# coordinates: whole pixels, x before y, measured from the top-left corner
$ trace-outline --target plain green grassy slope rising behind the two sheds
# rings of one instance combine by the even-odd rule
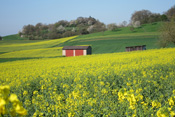
[[[147,49],[160,48],[157,44],[161,22],[145,24],[133,31],[130,27],[81,35],[67,41],[65,45],[91,45],[93,54],[124,52],[126,46],[146,45]],[[172,45],[171,45],[172,46]]]

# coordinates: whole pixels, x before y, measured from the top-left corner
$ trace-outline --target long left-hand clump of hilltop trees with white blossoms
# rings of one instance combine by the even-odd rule
[[[78,17],[70,22],[66,20],[58,21],[54,24],[26,25],[19,35],[28,37],[30,40],[35,39],[58,39],[74,35],[89,34],[105,31],[105,24],[93,17]]]

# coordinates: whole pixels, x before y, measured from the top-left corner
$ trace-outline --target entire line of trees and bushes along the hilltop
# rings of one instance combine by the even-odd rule
[[[105,30],[114,31],[120,27],[130,26],[131,30],[135,27],[139,27],[142,24],[170,21],[175,15],[175,7],[171,7],[163,14],[152,13],[149,10],[135,11],[131,15],[130,22],[123,21],[119,25],[111,23],[105,25],[99,20],[93,17],[78,17],[76,20],[66,21],[61,20],[54,24],[42,24],[25,25],[22,31],[19,32],[21,37],[27,37],[30,40],[35,39],[58,39],[63,37],[69,37],[74,35],[84,35],[95,32],[103,32]]]

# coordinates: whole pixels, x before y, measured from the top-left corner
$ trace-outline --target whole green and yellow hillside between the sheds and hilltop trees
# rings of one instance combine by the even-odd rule
[[[160,48],[157,44],[160,26],[161,22],[157,22],[142,25],[133,31],[130,27],[124,27],[115,31],[54,40],[28,40],[18,35],[10,35],[0,41],[0,61],[60,57],[61,48],[72,45],[90,45],[93,54],[124,52],[126,46],[135,45],[146,45],[147,49],[156,49]]]

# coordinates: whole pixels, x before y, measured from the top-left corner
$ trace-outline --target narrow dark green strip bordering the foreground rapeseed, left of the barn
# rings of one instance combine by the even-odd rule
[[[27,57],[27,58],[0,58],[0,63],[3,62],[12,62],[12,61],[20,61],[20,60],[30,60],[30,59],[43,59],[43,58],[60,58],[63,56],[54,56],[54,57]]]

